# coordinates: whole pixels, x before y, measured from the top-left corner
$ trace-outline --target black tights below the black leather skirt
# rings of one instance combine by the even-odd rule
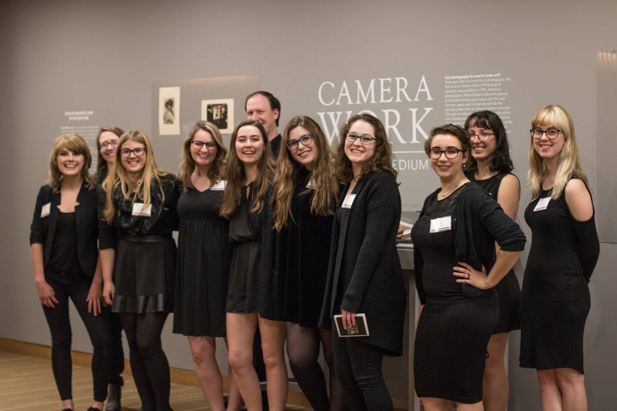
[[[143,411],[168,411],[169,363],[160,343],[167,312],[121,312],[130,349],[131,371]]]

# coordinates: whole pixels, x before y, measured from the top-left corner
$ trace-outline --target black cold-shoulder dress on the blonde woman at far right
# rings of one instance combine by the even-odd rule
[[[525,210],[531,248],[521,291],[520,365],[584,373],[583,333],[590,308],[587,282],[600,252],[595,218],[574,219],[565,190],[545,210],[534,211],[545,197],[550,197],[549,190],[543,190]]]

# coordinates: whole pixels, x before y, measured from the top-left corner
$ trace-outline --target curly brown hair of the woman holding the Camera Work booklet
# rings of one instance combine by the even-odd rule
[[[386,129],[384,125],[375,116],[370,114],[357,114],[349,118],[344,126],[341,128],[341,134],[339,134],[339,147],[336,149],[336,171],[342,182],[349,182],[354,178],[354,170],[351,167],[351,161],[345,154],[345,136],[349,132],[349,128],[356,121],[362,120],[371,124],[375,129],[375,154],[370,160],[366,161],[366,164],[362,167],[362,172],[358,179],[362,178],[366,174],[378,173],[379,171],[389,171],[396,177],[397,171],[392,167],[392,145],[390,140],[387,139]]]

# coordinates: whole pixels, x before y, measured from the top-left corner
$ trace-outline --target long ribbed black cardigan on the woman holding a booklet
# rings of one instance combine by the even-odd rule
[[[348,189],[349,184],[338,208]],[[400,356],[407,290],[395,245],[399,187],[392,173],[381,171],[362,177],[352,193],[356,197],[351,208],[342,209],[341,224],[334,218],[320,327],[329,327],[341,308],[364,313],[370,335],[357,338]]]

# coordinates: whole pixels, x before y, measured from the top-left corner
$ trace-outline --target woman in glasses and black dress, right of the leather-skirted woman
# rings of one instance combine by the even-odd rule
[[[216,337],[226,338],[225,306],[230,275],[229,220],[220,216],[225,191],[225,156],[217,126],[197,121],[184,139],[178,200],[178,271],[173,332],[188,336],[193,366],[213,411],[224,411],[223,379],[215,357]],[[242,399],[229,375],[227,410]]]

